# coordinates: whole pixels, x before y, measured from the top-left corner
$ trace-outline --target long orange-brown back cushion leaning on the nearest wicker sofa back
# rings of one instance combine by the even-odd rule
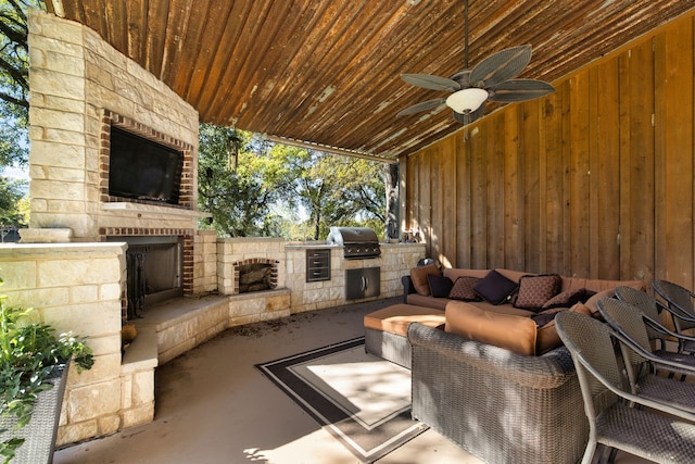
[[[534,355],[536,326],[527,316],[484,311],[463,301],[452,301],[445,310],[444,330],[515,353]]]

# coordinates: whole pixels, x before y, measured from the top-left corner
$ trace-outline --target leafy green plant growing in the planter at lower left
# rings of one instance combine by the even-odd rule
[[[84,338],[55,336],[54,329],[36,319],[31,310],[8,306],[0,296],[0,417],[15,416],[16,428],[31,418],[38,393],[52,388],[47,379],[68,361],[78,372],[91,368],[93,356]],[[5,431],[5,430],[0,430]],[[10,462],[23,439],[0,443],[0,456]]]

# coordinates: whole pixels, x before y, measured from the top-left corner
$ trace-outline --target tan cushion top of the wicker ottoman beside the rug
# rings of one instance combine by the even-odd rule
[[[415,322],[430,327],[439,327],[444,324],[444,312],[433,308],[394,304],[369,313],[364,318],[364,325],[367,328],[389,331],[403,337],[407,337],[408,326]]]

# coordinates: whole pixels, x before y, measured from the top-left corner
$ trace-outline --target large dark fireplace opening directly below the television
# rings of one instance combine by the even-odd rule
[[[142,317],[147,308],[184,296],[182,237],[112,237],[125,241],[127,319]]]

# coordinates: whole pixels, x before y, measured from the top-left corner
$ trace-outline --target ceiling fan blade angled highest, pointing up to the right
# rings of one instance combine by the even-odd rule
[[[519,46],[498,51],[478,63],[470,72],[473,87],[495,87],[516,77],[531,61],[531,46]]]

